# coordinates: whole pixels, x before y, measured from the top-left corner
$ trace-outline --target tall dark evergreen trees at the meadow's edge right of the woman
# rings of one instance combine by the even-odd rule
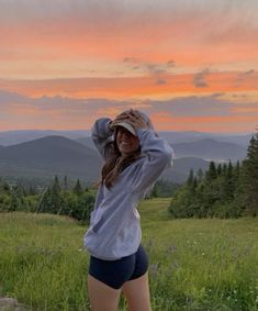
[[[238,218],[258,215],[258,133],[253,135],[246,158],[236,165],[215,165],[197,174],[176,191],[169,207],[175,218]]]

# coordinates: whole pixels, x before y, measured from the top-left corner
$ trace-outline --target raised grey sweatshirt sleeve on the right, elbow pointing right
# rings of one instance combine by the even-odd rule
[[[159,176],[172,166],[173,149],[150,129],[137,129],[142,160],[133,177],[133,190],[147,190]]]

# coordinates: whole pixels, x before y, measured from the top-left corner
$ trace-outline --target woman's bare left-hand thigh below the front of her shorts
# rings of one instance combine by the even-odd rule
[[[91,311],[116,311],[120,292],[121,289],[113,289],[91,275],[88,275],[88,295]]]

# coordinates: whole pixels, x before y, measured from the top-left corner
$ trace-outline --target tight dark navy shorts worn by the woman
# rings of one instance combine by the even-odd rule
[[[125,281],[139,278],[147,270],[148,256],[142,245],[135,254],[117,260],[90,256],[89,275],[114,289],[120,289]]]

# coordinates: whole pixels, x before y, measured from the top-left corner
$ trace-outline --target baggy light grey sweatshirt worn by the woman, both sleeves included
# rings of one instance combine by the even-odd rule
[[[108,143],[113,140],[111,119],[102,118],[92,127],[92,140],[103,159],[109,157]],[[137,204],[161,173],[172,165],[173,151],[153,129],[137,129],[141,156],[122,173],[108,189],[98,189],[90,226],[83,246],[100,259],[115,260],[134,254],[142,231]]]

